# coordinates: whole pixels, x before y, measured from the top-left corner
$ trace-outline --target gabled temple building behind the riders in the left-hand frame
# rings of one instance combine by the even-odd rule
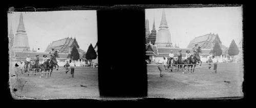
[[[45,52],[50,52],[50,50],[53,48],[54,51],[57,50],[59,53],[71,53],[72,48],[76,46],[78,53],[83,54],[85,51],[79,49],[78,43],[76,41],[76,38],[63,38],[56,41],[51,42],[50,45],[46,48]]]

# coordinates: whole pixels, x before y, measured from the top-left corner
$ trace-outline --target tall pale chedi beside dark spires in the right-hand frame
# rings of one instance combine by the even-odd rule
[[[157,32],[155,45],[158,47],[172,47],[172,41],[170,40],[170,31],[167,26],[164,9],[162,11],[162,19],[159,30]]]

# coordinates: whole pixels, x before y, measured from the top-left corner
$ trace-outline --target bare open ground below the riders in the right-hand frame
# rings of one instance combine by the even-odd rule
[[[205,66],[203,64],[201,67]],[[179,99],[243,96],[242,63],[218,64],[217,74],[213,67],[210,70],[195,69],[195,74],[182,72],[165,71],[162,72],[163,77],[160,77],[157,66],[147,66],[148,97]]]

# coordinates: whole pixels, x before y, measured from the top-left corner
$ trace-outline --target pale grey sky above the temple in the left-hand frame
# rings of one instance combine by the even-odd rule
[[[75,37],[80,49],[87,52],[89,45],[95,46],[98,40],[95,10],[22,13],[30,50],[39,48],[38,52],[45,52],[52,41]],[[8,13],[8,33],[12,27],[16,34],[19,15],[20,12]]]

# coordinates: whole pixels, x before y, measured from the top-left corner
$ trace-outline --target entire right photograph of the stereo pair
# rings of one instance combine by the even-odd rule
[[[243,7],[145,9],[147,97],[244,96]]]

